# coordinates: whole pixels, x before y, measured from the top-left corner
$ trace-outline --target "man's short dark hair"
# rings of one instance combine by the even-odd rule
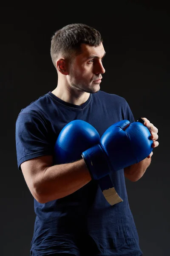
[[[100,32],[83,23],[72,23],[57,30],[51,38],[51,59],[56,68],[56,61],[62,53],[69,58],[72,53],[79,54],[81,44],[97,47],[103,42]]]

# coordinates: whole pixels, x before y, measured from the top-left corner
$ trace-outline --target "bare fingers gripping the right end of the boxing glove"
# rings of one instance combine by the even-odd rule
[[[150,131],[150,139],[153,140],[152,147],[156,148],[159,145],[158,140],[158,129],[145,117],[142,117],[144,120],[144,125],[149,129]],[[147,158],[150,158],[153,155],[153,151],[149,154]]]

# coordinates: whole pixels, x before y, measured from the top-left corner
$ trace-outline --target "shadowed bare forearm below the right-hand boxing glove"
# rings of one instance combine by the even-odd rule
[[[125,177],[131,181],[139,180],[146,172],[146,169],[150,166],[150,163],[151,157],[145,158],[139,163],[135,163],[131,166],[126,167],[124,169]]]

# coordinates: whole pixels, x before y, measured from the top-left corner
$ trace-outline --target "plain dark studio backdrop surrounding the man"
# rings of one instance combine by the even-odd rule
[[[22,108],[57,86],[51,36],[69,23],[86,23],[102,34],[101,90],[125,97],[135,119],[147,117],[159,129],[150,167],[139,181],[126,183],[144,256],[170,255],[169,6],[118,0],[25,3],[0,12],[1,255],[29,256],[34,200],[17,169],[15,122]]]

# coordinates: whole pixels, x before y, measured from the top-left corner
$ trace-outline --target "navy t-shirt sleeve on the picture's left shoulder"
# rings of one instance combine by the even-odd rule
[[[34,157],[52,155],[53,150],[45,120],[34,113],[20,113],[16,120],[17,166]]]

